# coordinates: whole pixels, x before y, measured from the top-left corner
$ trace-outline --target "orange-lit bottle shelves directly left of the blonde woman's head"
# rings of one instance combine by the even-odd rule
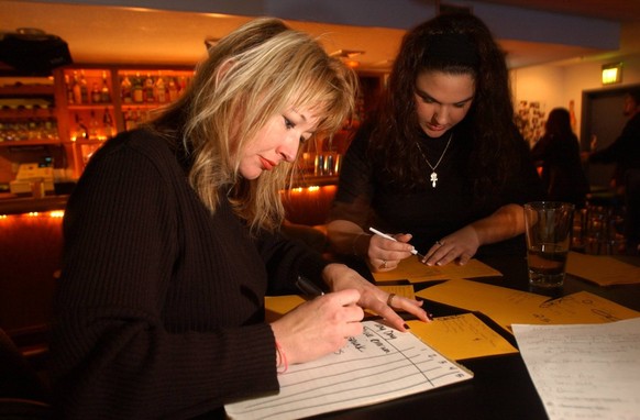
[[[131,130],[186,89],[191,68],[71,66],[56,70],[60,131],[79,177],[103,142]]]

